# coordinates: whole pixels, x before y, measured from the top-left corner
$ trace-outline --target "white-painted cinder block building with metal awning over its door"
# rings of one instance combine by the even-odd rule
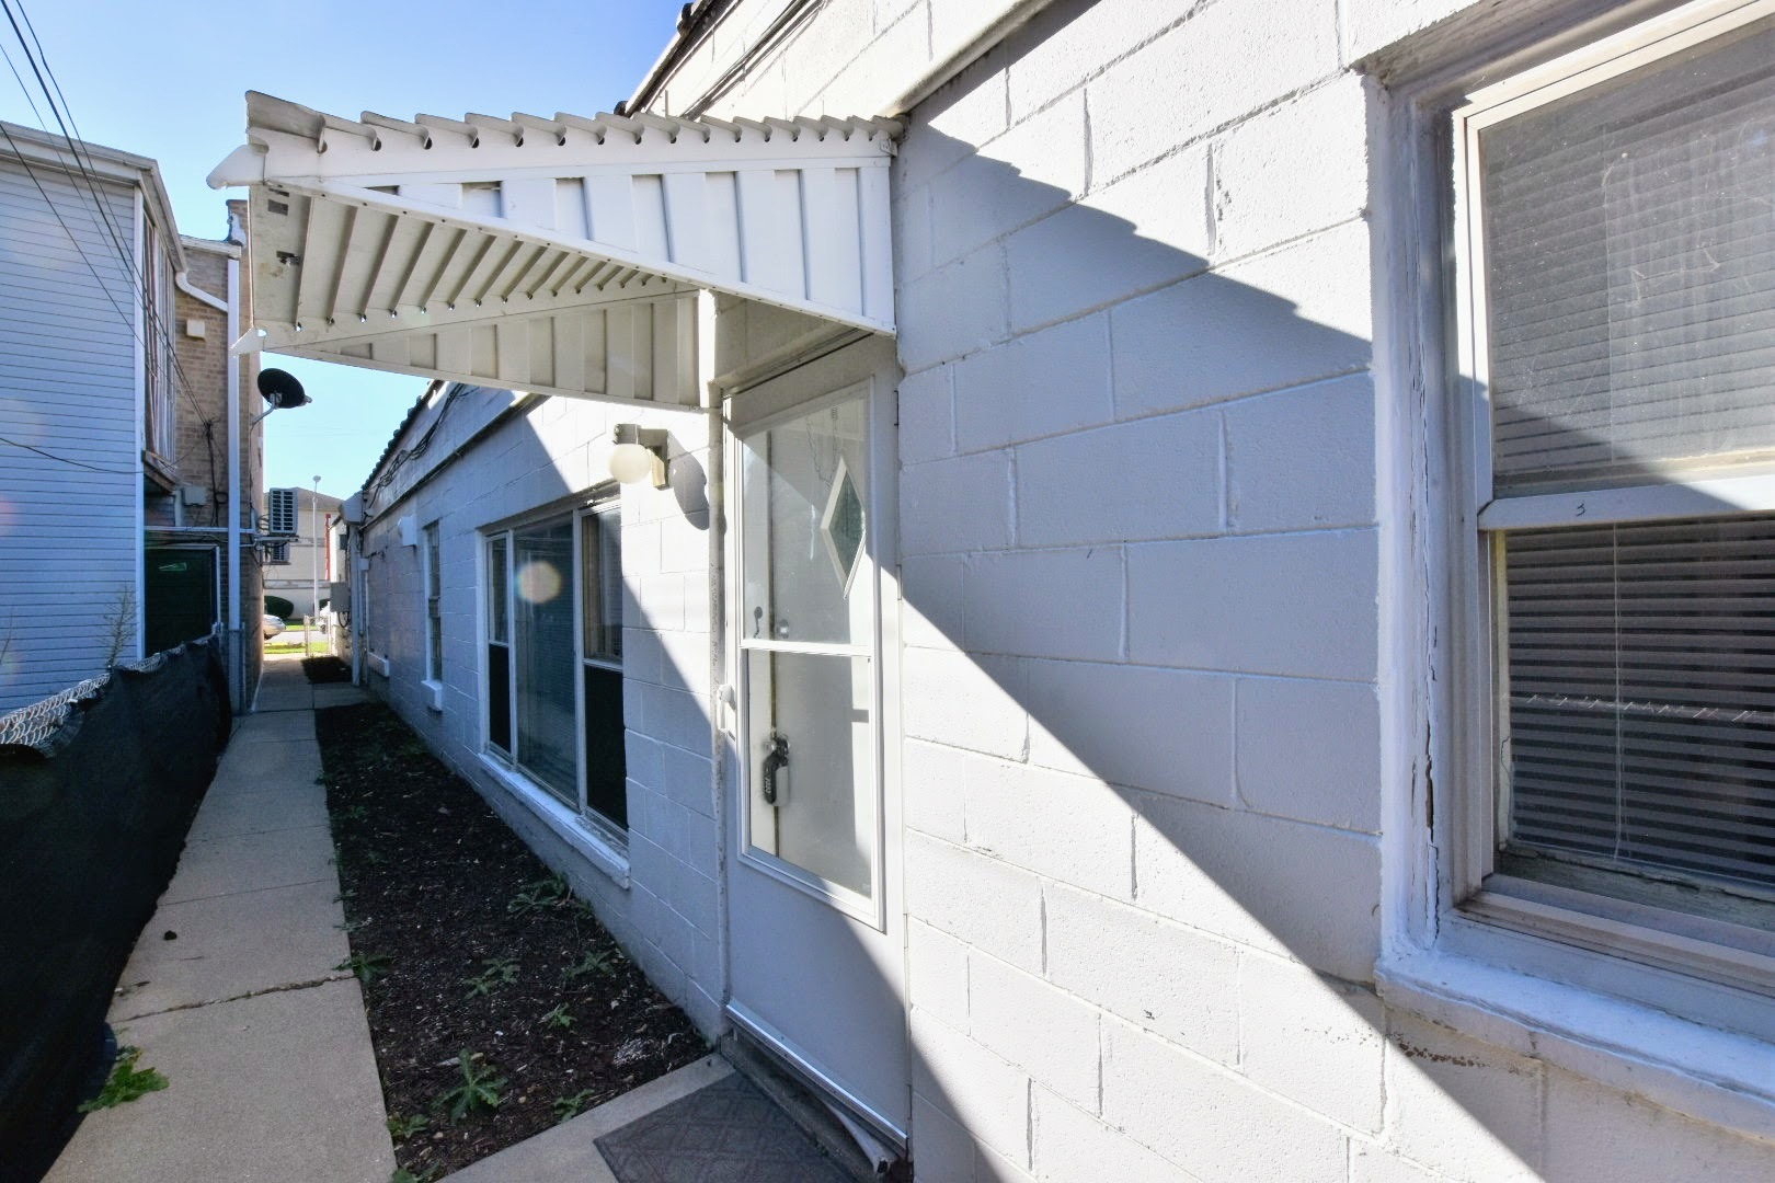
[[[215,181],[440,380],[369,685],[918,1178],[1766,1179],[1771,12],[703,0]]]

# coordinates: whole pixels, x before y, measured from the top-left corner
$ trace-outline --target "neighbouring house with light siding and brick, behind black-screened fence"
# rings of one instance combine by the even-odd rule
[[[0,227],[11,709],[227,628],[229,491],[250,504],[261,465],[257,362],[227,355],[240,236],[181,238],[151,160],[14,124],[0,138]],[[238,599],[259,599],[250,555]],[[231,662],[236,688],[257,676],[257,654],[250,630]]]

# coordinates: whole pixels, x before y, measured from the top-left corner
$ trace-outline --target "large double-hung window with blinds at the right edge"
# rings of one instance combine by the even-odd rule
[[[1454,889],[1470,917],[1766,990],[1775,18],[1747,11],[1661,18],[1452,115],[1456,566],[1491,704]]]

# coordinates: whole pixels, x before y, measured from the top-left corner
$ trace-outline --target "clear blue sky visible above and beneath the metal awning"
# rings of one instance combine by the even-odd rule
[[[309,0],[229,7],[170,0],[11,0],[23,7],[83,138],[160,161],[183,234],[222,238],[224,199],[204,176],[245,140],[247,90],[355,119],[373,110],[509,115],[593,114],[628,98],[671,39],[680,2],[550,0],[424,5]],[[20,44],[5,48],[43,114],[0,69],[0,119],[55,131]],[[4,66],[4,62],[0,62]],[[270,486],[344,497],[362,484],[421,378],[266,355],[311,406],[266,420]]]

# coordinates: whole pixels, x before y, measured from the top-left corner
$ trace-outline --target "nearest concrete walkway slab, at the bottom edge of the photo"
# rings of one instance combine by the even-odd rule
[[[135,1020],[169,1087],[91,1114],[48,1183],[387,1183],[394,1146],[355,979]]]

